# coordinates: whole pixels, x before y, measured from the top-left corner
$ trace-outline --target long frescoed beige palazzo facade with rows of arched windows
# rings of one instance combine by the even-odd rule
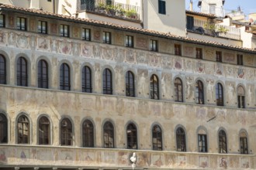
[[[0,8],[0,169],[256,168],[254,49]]]

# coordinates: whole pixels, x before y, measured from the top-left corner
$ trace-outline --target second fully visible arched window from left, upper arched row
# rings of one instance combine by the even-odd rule
[[[40,59],[37,66],[37,82],[38,87],[48,88],[48,64],[44,59]]]

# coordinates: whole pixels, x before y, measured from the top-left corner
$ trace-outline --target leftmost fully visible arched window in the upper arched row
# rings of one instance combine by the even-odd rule
[[[26,59],[22,56],[17,60],[17,85],[22,87],[28,86],[27,63]]]

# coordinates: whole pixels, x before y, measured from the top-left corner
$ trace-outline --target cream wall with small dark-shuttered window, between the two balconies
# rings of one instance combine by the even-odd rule
[[[158,13],[158,1],[144,1],[144,29],[185,36],[185,0],[166,0],[166,14]]]

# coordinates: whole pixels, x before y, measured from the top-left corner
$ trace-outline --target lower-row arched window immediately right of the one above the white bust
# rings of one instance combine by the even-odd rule
[[[152,129],[152,144],[153,150],[162,151],[162,131],[160,126],[154,125]]]

